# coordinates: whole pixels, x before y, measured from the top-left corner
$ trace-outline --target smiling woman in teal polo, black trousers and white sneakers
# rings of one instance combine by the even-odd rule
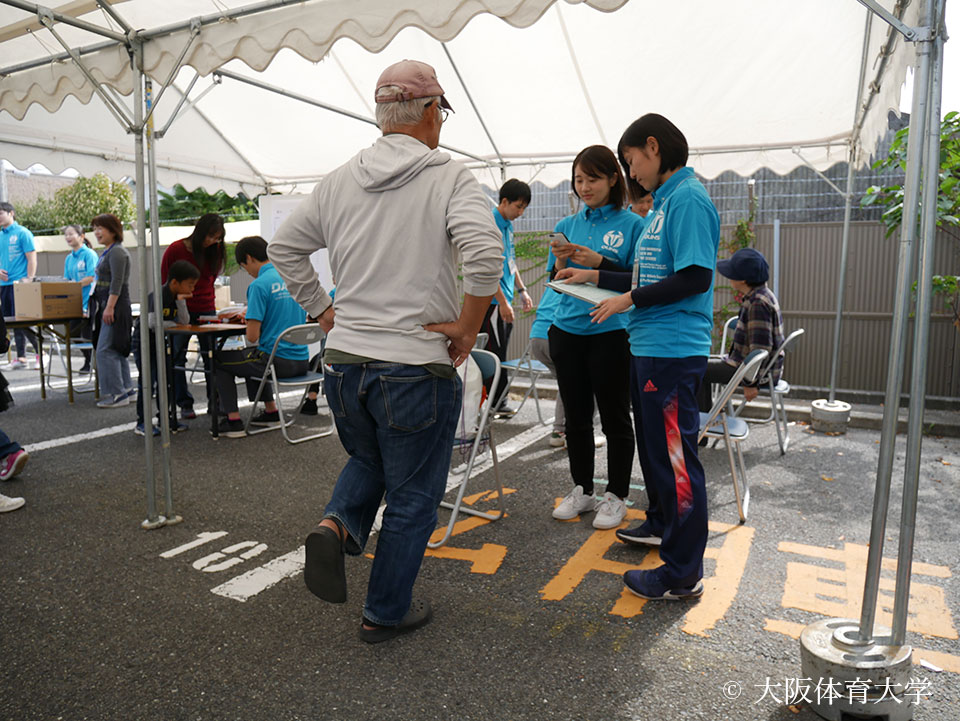
[[[623,208],[626,189],[616,156],[603,145],[591,145],[577,155],[572,175],[573,191],[583,201],[583,208],[557,223],[556,232],[569,242],[552,243],[551,272],[629,268],[644,220]],[[626,515],[624,499],[630,491],[633,466],[633,429],[626,393],[630,351],[626,318],[613,318],[600,326],[591,322],[591,308],[586,301],[562,295],[548,331],[550,356],[566,411],[573,478],[573,490],[554,509],[553,517],[570,520],[595,510],[594,528],[616,528]],[[606,492],[599,497],[593,488],[594,401],[607,438],[608,481]]]

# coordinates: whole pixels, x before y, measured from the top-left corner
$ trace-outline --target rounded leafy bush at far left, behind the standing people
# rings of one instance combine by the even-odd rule
[[[113,213],[124,223],[134,216],[133,194],[124,183],[110,180],[103,173],[77,178],[60,188],[53,198],[38,198],[31,205],[17,208],[17,222],[36,235],[59,233],[65,225],[76,223],[90,227],[94,216]]]

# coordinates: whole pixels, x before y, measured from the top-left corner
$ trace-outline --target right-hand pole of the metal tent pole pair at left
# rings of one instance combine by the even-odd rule
[[[147,108],[152,108],[153,102],[153,83],[146,82]],[[159,98],[158,98],[159,99]],[[149,171],[150,194],[150,249],[152,251],[152,272],[150,281],[154,298],[160,298],[163,284],[160,282],[160,210],[157,207],[157,154],[156,138],[153,137],[153,117],[148,115],[146,123],[147,135],[147,169]],[[149,348],[149,345],[146,346]],[[164,516],[167,519],[167,525],[180,523],[183,518],[177,515],[173,510],[173,480],[170,476],[170,399],[167,389],[167,363],[166,363],[166,344],[163,337],[163,324],[155,323],[153,329],[153,347],[157,349],[156,358],[151,357],[157,362],[157,396],[160,412],[160,463],[163,469],[163,498],[164,498]],[[152,356],[153,354],[151,354]],[[151,391],[152,393],[152,391]],[[152,399],[151,399],[152,400]],[[152,419],[151,419],[152,424]]]

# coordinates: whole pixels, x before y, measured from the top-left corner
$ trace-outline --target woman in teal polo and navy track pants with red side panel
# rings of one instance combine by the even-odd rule
[[[659,546],[663,565],[627,571],[624,583],[641,598],[697,598],[703,594],[707,491],[697,457],[696,394],[710,354],[720,217],[693,169],[685,167],[686,138],[662,115],[633,122],[619,151],[631,179],[654,198],[632,277],[603,270],[565,277],[628,291],[592,311],[595,323],[633,308],[630,394],[649,508],[640,526],[618,530],[617,538]]]

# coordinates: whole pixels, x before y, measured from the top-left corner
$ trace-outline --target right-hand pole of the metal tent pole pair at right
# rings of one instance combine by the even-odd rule
[[[932,3],[931,3],[932,4]],[[936,3],[933,24],[943,20],[944,0]],[[893,644],[904,643],[907,633],[907,607],[910,601],[910,573],[913,565],[913,541],[916,533],[917,493],[920,485],[920,447],[923,442],[924,395],[927,387],[927,355],[930,342],[930,308],[933,297],[933,251],[937,237],[937,196],[940,183],[940,95],[943,87],[943,35],[924,43],[931,66],[927,94],[927,126],[924,131],[923,202],[919,265],[917,267],[917,309],[914,322],[910,417],[907,421],[907,456],[903,480],[903,506],[900,515],[900,547],[897,553],[897,585],[893,604]]]

